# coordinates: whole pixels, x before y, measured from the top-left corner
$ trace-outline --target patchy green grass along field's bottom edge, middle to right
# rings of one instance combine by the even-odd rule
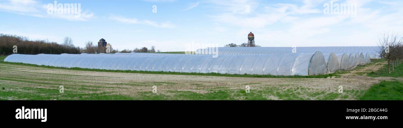
[[[311,89],[310,89],[311,90]],[[152,93],[146,91],[138,93],[135,96],[137,100],[335,100],[339,98],[339,93],[325,93],[324,91],[303,91],[303,93],[309,93],[309,97],[305,97],[303,93],[297,89],[285,89],[278,87],[267,87],[264,89],[256,90],[250,89],[249,93],[246,93],[244,89],[232,90],[232,89],[219,89],[210,90],[208,93],[196,93],[193,91],[168,91],[170,93]],[[312,96],[312,97],[311,97]],[[347,96],[348,98],[348,96]]]

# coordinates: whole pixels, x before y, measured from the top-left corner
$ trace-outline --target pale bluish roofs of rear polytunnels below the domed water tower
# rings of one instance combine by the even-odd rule
[[[196,54],[214,53],[216,49],[197,49]],[[289,54],[289,53],[368,53],[371,58],[378,58],[378,46],[352,46],[352,47],[218,47],[218,54]]]

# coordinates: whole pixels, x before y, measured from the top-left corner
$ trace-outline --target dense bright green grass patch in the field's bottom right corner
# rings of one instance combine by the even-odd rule
[[[403,83],[382,81],[368,89],[360,100],[403,100]]]

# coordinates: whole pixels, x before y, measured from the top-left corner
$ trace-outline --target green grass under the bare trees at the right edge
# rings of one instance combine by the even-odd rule
[[[395,71],[392,70],[391,65],[391,73],[388,73],[388,64],[384,65],[378,71],[372,71],[367,73],[369,77],[403,77],[403,66],[398,65],[395,67]]]

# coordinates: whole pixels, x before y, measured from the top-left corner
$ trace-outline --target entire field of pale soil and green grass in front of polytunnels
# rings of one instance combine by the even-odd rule
[[[256,78],[84,71],[0,62],[0,100],[402,100],[399,91],[387,95],[390,89],[403,87],[399,75],[374,76],[382,74],[385,64],[375,61],[328,78]],[[59,92],[60,85],[64,93]],[[154,85],[157,93],[152,92]],[[250,93],[245,93],[246,85]],[[343,93],[338,93],[339,85]],[[373,96],[385,87],[389,89],[384,97]]]

